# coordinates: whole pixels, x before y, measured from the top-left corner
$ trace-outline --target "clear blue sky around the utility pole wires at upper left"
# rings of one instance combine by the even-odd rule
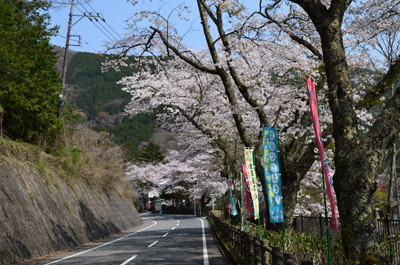
[[[54,1],[58,8],[49,11],[51,26],[60,26],[59,36],[53,37],[50,42],[53,45],[65,47],[71,0],[63,0],[66,4],[57,4],[60,3],[59,1],[61,0]],[[161,10],[163,13],[168,14],[172,8],[176,7],[178,2],[183,1],[139,0],[137,5],[132,6],[132,4],[126,0],[91,0],[90,2],[87,2],[87,0],[74,0],[71,35],[77,36],[71,37],[70,44],[77,45],[79,37],[81,42],[80,46],[70,46],[70,49],[92,53],[104,51],[104,47],[102,47],[104,41],[122,38],[124,33],[127,33],[125,29],[127,22],[124,22],[124,20],[132,17],[135,12],[141,10]],[[195,3],[195,1],[186,2]],[[99,15],[97,15],[97,13]],[[84,16],[84,14],[86,14],[86,16]],[[105,22],[99,18],[97,18],[98,22],[94,19],[90,21],[87,16],[91,15],[96,17],[100,16],[104,18]],[[194,19],[196,22],[196,18]],[[197,20],[200,22],[199,18]],[[200,27],[200,23],[195,24]],[[186,30],[190,28],[190,26],[189,24],[182,25],[182,27],[186,27]],[[201,48],[201,46],[205,44],[199,29],[193,29],[186,38],[195,49]]]

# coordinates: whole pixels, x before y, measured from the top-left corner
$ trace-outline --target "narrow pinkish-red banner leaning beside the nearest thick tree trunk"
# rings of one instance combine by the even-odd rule
[[[307,76],[307,92],[308,92],[307,95],[308,95],[308,100],[310,103],[311,118],[312,118],[312,122],[313,122],[319,157],[320,157],[321,163],[323,165],[322,167],[323,167],[324,177],[325,177],[326,192],[328,193],[328,198],[329,198],[329,202],[330,202],[331,209],[332,209],[331,228],[333,230],[337,230],[338,222],[337,222],[337,215],[336,215],[335,198],[333,196],[333,191],[332,191],[332,177],[329,174],[328,162],[326,161],[324,145],[322,143],[321,129],[319,126],[319,118],[318,118],[317,96],[316,96],[316,91],[315,91],[315,83],[308,76]]]

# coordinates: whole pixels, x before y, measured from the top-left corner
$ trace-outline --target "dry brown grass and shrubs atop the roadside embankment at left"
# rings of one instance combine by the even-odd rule
[[[0,138],[0,155],[31,164],[47,186],[57,181],[57,177],[71,188],[81,180],[114,189],[121,197],[128,198],[132,196],[132,186],[124,180],[125,153],[110,137],[106,132],[97,133],[87,126],[75,125],[63,133],[51,154],[36,145]],[[53,185],[59,189],[57,182]]]

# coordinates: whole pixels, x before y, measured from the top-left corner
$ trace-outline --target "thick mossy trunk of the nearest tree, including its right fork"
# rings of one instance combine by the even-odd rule
[[[399,93],[390,100],[373,128],[360,143],[341,24],[345,1],[327,12],[306,6],[321,37],[328,98],[335,140],[334,187],[346,257],[365,264],[379,256],[378,232],[372,195],[376,175],[398,134]]]

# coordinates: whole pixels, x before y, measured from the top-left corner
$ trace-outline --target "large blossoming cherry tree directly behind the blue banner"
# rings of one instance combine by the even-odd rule
[[[208,115],[212,113],[218,125],[209,122],[210,118],[206,118],[204,121],[208,122],[208,127],[204,124],[201,126],[197,124],[195,127],[209,135],[228,157],[231,152],[226,146],[233,146],[232,141],[229,144],[229,139],[239,138],[244,146],[254,146],[257,154],[256,168],[261,183],[264,183],[264,173],[260,152],[260,127],[279,124],[281,140],[284,143],[281,152],[284,207],[286,220],[290,224],[300,180],[314,162],[314,145],[310,141],[311,130],[304,130],[304,124],[309,124],[310,118],[304,115],[308,107],[305,89],[298,85],[299,69],[312,73],[318,64],[312,58],[308,58],[312,55],[310,52],[301,45],[289,42],[288,38],[281,39],[279,43],[274,40],[265,41],[266,35],[269,34],[266,29],[261,28],[254,32],[255,26],[260,23],[257,19],[249,20],[247,15],[242,15],[235,9],[230,10],[227,6],[222,6],[221,9],[219,6],[208,6],[204,1],[198,1],[197,4],[203,33],[208,42],[206,49],[201,51],[184,47],[179,42],[179,36],[176,37],[175,31],[170,29],[169,21],[159,14],[153,14],[152,17],[157,28],[152,27],[146,29],[147,31],[135,28],[136,31],[130,39],[133,42],[128,45],[130,51],[135,48],[138,52],[136,55],[173,54],[175,57],[173,60],[154,58],[154,62],[150,65],[154,65],[155,69],[148,67],[146,71],[127,77],[121,82],[126,85],[126,90],[132,93],[134,99],[128,107],[128,112],[133,114],[135,111],[146,111],[154,108],[155,105],[152,103],[156,103],[157,106],[168,106],[171,110],[180,112],[192,124],[195,120],[201,120],[197,118],[200,112]],[[211,8],[215,10],[212,11]],[[228,23],[231,27],[228,33],[223,27],[225,17],[222,15],[222,10],[235,16],[235,23]],[[148,15],[148,12],[142,13],[144,17]],[[218,31],[219,37],[216,40],[211,37],[208,17]],[[259,38],[258,35],[264,35],[264,38]],[[124,52],[126,53],[127,49]],[[177,62],[179,66],[171,66]],[[110,62],[110,65],[112,63]],[[149,60],[146,60],[146,63],[149,63]],[[194,81],[194,77],[198,80]],[[204,80],[208,80],[213,86],[205,85]],[[193,105],[193,103],[189,103],[191,99],[188,96],[191,94],[184,88],[189,86],[188,90],[194,91],[194,84],[203,86],[196,89],[201,91],[202,96],[205,95],[204,91],[207,91],[217,93],[218,97],[210,94],[207,98],[215,99],[217,102],[209,101],[208,107],[192,107],[191,110],[195,109],[197,113],[189,114],[188,109],[183,108],[182,104]],[[162,90],[160,86],[163,87]],[[141,88],[145,88],[145,91]],[[174,94],[171,99],[159,98],[160,95],[164,97],[168,93]],[[141,101],[140,98],[144,100]],[[326,118],[329,119],[329,115]],[[226,121],[230,121],[229,127]],[[216,128],[220,131],[215,131]],[[227,132],[228,128],[235,130],[235,133],[230,133],[228,136],[221,134],[221,131]],[[235,137],[230,138],[231,135]],[[266,196],[265,185],[261,186]]]

